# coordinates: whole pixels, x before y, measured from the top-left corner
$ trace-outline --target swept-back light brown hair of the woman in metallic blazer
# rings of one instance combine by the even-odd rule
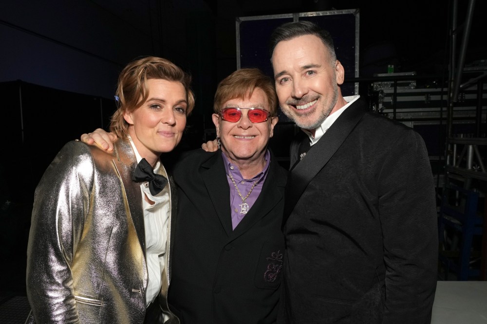
[[[149,96],[148,79],[180,82],[186,90],[186,116],[194,108],[194,93],[190,89],[191,76],[188,73],[165,58],[148,56],[137,59],[129,63],[118,77],[118,108],[112,116],[110,131],[119,138],[127,138],[129,134],[129,124],[124,119],[124,113],[142,106]]]

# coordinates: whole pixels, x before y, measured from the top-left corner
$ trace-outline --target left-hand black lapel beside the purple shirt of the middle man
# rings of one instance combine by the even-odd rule
[[[211,159],[202,164],[201,177],[225,233],[230,236],[233,232],[232,219],[229,216],[231,207],[229,199],[225,198],[230,197],[230,189],[221,151],[216,151]]]

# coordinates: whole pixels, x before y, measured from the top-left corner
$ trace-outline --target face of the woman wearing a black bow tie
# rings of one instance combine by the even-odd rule
[[[180,82],[147,80],[149,96],[141,107],[125,112],[129,134],[139,154],[151,165],[181,141],[186,126],[186,90]]]

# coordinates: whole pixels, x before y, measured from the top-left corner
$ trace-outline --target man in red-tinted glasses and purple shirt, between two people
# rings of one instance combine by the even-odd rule
[[[174,169],[179,203],[168,299],[182,323],[276,321],[287,180],[267,149],[277,100],[260,70],[230,74],[218,85],[212,115],[220,149],[189,152]],[[107,144],[104,131],[96,132],[81,139]]]

